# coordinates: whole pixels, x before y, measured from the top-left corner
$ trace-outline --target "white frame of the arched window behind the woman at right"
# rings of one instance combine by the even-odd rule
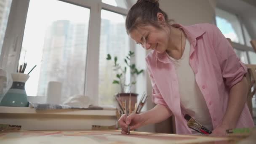
[[[242,14],[237,13],[237,12],[235,12],[235,11],[232,11],[232,10],[230,10],[230,9],[228,9],[228,8],[223,8],[223,7],[221,7],[221,6],[216,6],[216,8],[219,8],[219,9],[221,9],[221,10],[223,10],[223,11],[226,11],[226,12],[228,12],[228,13],[234,14],[234,15],[237,17],[238,22],[239,22],[240,27],[241,27],[241,30],[242,30],[242,37],[243,37],[244,44],[242,45],[242,44],[240,44],[240,43],[235,43],[235,42],[231,42],[231,43],[232,43],[233,48],[235,48],[235,49],[238,50],[238,51],[243,51],[243,52],[246,53],[248,64],[251,64],[250,56],[249,56],[249,53],[248,53],[248,52],[249,52],[249,51],[254,52],[254,50],[253,50],[252,47],[249,47],[249,46],[246,45],[246,37],[245,37],[245,32],[244,32],[244,29],[243,29],[243,25],[244,25],[244,27],[245,27],[246,29],[247,29],[247,27],[246,27],[245,23],[243,23],[243,21],[242,21],[242,20],[243,20]],[[216,15],[215,15],[215,25],[217,26],[217,24],[216,24]],[[248,31],[248,29],[247,29],[247,31]],[[249,34],[249,35],[250,35],[250,34]],[[251,35],[250,35],[250,36],[251,36]]]

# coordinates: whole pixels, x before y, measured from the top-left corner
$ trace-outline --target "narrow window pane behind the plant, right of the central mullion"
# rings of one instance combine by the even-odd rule
[[[129,51],[129,38],[125,30],[125,16],[101,10],[101,36],[99,54],[99,103],[112,105],[113,96],[120,92],[120,86],[112,84],[116,78],[114,61],[107,61],[107,54],[117,56],[117,62],[124,66],[124,58]],[[129,72],[127,72],[129,73]],[[127,80],[129,77],[126,78]]]

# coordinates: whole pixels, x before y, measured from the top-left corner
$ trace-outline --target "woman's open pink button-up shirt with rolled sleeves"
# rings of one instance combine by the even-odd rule
[[[182,28],[190,42],[189,65],[195,73],[213,122],[218,126],[226,112],[229,90],[240,82],[247,68],[237,58],[232,46],[213,24],[196,24]],[[176,133],[191,134],[180,104],[179,84],[174,64],[165,53],[151,51],[147,57],[147,70],[152,83],[152,101],[168,107],[175,116]],[[192,116],[192,115],[191,115]],[[192,116],[193,117],[193,116]],[[247,104],[237,122],[237,128],[253,127]]]

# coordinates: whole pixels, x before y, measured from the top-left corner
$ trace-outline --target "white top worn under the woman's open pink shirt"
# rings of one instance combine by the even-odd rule
[[[195,117],[197,122],[209,130],[213,130],[211,115],[203,94],[195,81],[195,73],[189,65],[189,51],[190,43],[188,40],[186,40],[184,53],[181,59],[173,59],[166,53],[166,55],[175,65],[175,70],[179,81],[181,105],[185,108],[187,114],[189,114],[191,117]],[[192,131],[192,133],[194,132],[195,131]]]

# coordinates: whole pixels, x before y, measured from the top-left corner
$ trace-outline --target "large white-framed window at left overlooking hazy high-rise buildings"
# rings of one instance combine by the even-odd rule
[[[112,85],[114,73],[106,58],[110,53],[123,62],[134,49],[125,30],[127,2],[13,0],[5,34],[11,39],[3,43],[0,67],[11,73],[18,63],[27,63],[28,73],[37,65],[25,85],[35,101],[47,96],[50,81],[58,81],[61,102],[82,94],[91,98],[91,104],[114,104],[113,95],[120,90]]]

